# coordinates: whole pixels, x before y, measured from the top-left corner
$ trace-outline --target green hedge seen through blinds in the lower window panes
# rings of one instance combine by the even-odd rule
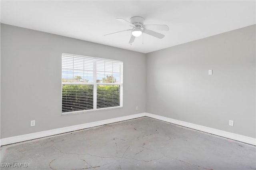
[[[97,108],[120,106],[120,85],[97,85]],[[62,85],[62,112],[93,109],[93,85]]]

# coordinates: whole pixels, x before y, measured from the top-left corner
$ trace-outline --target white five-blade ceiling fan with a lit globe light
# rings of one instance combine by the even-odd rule
[[[116,19],[126,23],[128,26],[133,27],[132,29],[129,29],[129,30],[118,31],[118,32],[131,31],[132,35],[129,43],[133,43],[135,38],[141,36],[142,33],[162,39],[164,38],[164,34],[160,34],[152,30],[169,31],[169,27],[167,25],[144,25],[144,18],[141,16],[134,16],[130,18],[130,22],[123,18],[116,18]],[[152,29],[152,30],[149,30],[149,29]],[[110,34],[116,34],[118,32],[113,32]],[[106,34],[104,36],[107,36],[110,34]]]

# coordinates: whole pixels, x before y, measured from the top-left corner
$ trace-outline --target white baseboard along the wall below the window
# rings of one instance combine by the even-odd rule
[[[85,129],[85,128],[97,127],[97,126],[100,126],[100,125],[106,125],[106,124],[110,124],[110,123],[126,121],[126,120],[135,119],[135,118],[139,118],[139,117],[145,117],[145,116],[146,116],[146,113],[139,113],[139,114],[124,116],[124,117],[106,119],[106,120],[103,120],[103,121],[84,123],[84,124],[81,124],[81,125],[74,125],[74,126],[70,126],[70,127],[56,128],[56,129],[52,129],[52,130],[45,130],[45,131],[41,131],[41,132],[23,134],[23,135],[13,136],[13,137],[9,137],[9,138],[2,138],[1,139],[1,146],[6,145],[6,144],[13,144],[13,143],[17,143],[17,142],[23,142],[23,141],[26,141],[26,140],[32,140],[32,139],[36,139],[36,138],[42,138],[42,137],[46,137],[46,136],[52,136],[52,135],[55,135],[55,134],[72,132],[72,131],[75,131],[75,130],[81,130],[81,129]]]

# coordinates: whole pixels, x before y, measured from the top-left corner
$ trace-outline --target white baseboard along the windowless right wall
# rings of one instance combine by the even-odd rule
[[[230,138],[230,139],[233,139],[233,140],[237,140],[237,141],[240,141],[240,142],[256,145],[256,138],[243,136],[241,134],[231,133],[231,132],[227,132],[227,131],[224,131],[224,130],[218,130],[216,128],[210,128],[210,127],[205,127],[205,126],[201,126],[201,125],[196,125],[196,124],[193,124],[193,123],[179,121],[179,120],[176,120],[176,119],[171,119],[171,118],[168,118],[168,117],[154,115],[154,114],[151,114],[151,113],[146,113],[146,117],[151,117],[151,118],[154,118],[154,119],[158,119],[160,121],[165,121],[165,122],[173,123],[173,124],[180,125],[180,126],[183,126],[183,127],[188,127],[188,128],[200,130],[202,132],[207,132],[207,133],[215,134],[215,135],[222,136],[222,137],[225,137],[225,138]]]

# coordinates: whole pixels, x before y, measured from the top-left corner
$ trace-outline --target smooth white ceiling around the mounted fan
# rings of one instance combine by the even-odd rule
[[[142,53],[186,43],[256,23],[253,1],[3,1],[1,22]],[[144,34],[128,44],[132,16],[144,24],[167,24],[163,39]]]

